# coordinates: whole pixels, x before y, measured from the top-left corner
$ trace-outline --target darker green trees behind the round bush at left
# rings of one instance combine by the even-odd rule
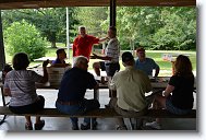
[[[74,8],[70,8],[70,30],[73,30],[77,21],[74,19]],[[25,20],[35,25],[51,47],[57,47],[56,43],[65,43],[65,8],[40,8],[24,10],[7,10],[2,12],[3,28],[9,27],[13,22]],[[70,33],[74,36],[73,33]]]

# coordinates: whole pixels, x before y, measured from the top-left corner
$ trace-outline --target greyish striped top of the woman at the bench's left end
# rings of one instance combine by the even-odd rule
[[[4,89],[10,89],[10,106],[24,106],[36,102],[35,82],[40,82],[43,75],[32,70],[12,70],[7,73]]]

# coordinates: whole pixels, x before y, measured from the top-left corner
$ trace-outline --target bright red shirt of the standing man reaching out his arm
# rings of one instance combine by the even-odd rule
[[[85,56],[89,60],[90,51],[94,44],[98,44],[99,38],[90,35],[85,35],[82,37],[78,35],[73,43],[73,57]]]

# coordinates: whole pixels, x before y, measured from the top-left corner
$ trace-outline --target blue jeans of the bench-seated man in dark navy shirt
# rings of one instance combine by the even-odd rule
[[[86,112],[98,109],[100,104],[97,100],[84,100],[80,105],[62,105],[56,102],[56,107],[59,112],[70,115],[82,115]],[[77,126],[78,118],[70,117],[72,125]],[[94,118],[96,120],[96,118]],[[90,124],[90,118],[84,118],[84,122]]]

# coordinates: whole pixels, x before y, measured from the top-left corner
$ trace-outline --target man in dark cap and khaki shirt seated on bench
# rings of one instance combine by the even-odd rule
[[[125,70],[113,75],[110,83],[111,90],[117,90],[118,97],[110,101],[110,106],[121,115],[143,115],[148,108],[145,93],[152,91],[148,77],[135,69],[134,58],[131,52],[122,54],[122,62]],[[123,118],[118,118],[117,130],[126,130]]]

